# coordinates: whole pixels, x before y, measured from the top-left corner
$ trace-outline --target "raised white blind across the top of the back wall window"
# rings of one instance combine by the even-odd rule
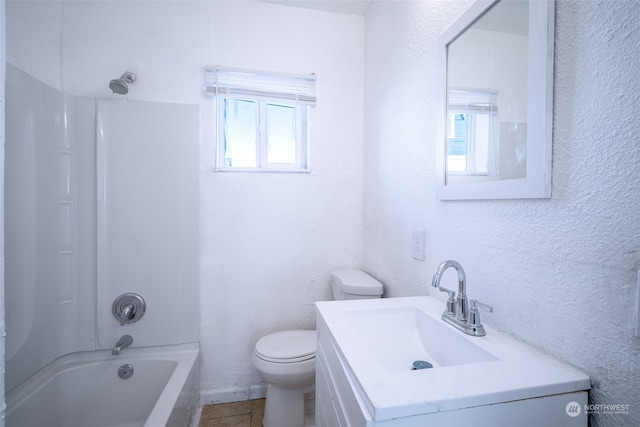
[[[247,96],[315,105],[315,74],[299,75],[219,66],[205,68],[206,91],[212,95]]]

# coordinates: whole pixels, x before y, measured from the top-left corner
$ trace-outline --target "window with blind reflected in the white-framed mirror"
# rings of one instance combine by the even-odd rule
[[[497,93],[452,89],[447,102],[447,171],[494,175]]]

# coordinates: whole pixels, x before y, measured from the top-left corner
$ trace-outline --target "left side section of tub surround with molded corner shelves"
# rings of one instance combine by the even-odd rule
[[[6,67],[9,391],[57,357],[96,349],[96,181],[95,102]]]

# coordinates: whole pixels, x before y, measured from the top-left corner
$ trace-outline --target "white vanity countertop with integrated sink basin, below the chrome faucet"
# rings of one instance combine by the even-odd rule
[[[445,303],[433,297],[316,306],[319,333],[329,331],[378,421],[590,388],[582,372],[486,325],[486,336],[473,337],[444,323]],[[412,370],[415,360],[433,368]]]

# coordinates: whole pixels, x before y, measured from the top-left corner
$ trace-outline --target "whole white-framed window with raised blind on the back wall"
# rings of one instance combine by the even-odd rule
[[[207,68],[216,100],[217,170],[309,171],[315,76]]]

